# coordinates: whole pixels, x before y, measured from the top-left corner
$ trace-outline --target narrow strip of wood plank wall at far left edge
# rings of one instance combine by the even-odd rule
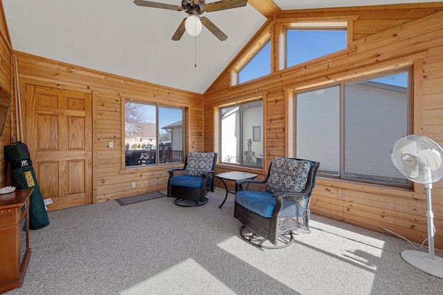
[[[6,19],[3,12],[3,4],[0,3],[0,87],[3,91],[14,95],[12,91],[12,46],[6,25]],[[11,115],[14,110],[14,98],[12,97],[11,106],[6,117],[3,134],[0,137],[0,187],[10,184],[9,173],[6,173],[6,161],[3,147],[11,144]]]

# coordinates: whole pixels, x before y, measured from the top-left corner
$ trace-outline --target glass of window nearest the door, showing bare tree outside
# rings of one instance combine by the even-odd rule
[[[183,109],[125,101],[125,166],[183,162]]]

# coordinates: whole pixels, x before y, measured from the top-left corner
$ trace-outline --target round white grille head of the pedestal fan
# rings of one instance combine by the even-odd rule
[[[443,149],[422,135],[406,135],[392,146],[395,167],[413,182],[430,184],[443,178]]]

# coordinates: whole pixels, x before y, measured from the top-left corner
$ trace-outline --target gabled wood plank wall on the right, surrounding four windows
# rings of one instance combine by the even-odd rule
[[[242,99],[264,99],[264,169],[219,164],[217,173],[242,170],[264,176],[272,158],[293,156],[291,148],[291,101],[293,88],[332,84],[363,73],[394,68],[413,68],[413,133],[426,135],[443,146],[443,3],[372,6],[279,12],[264,24],[229,66],[204,93],[204,149],[218,150],[220,106]],[[354,17],[352,44],[346,50],[278,70],[280,23],[291,21],[346,19]],[[273,53],[270,75],[230,86],[238,61],[271,30]],[[257,178],[257,179],[260,179]],[[435,245],[443,249],[443,181],[433,186]],[[427,238],[426,193],[423,185],[413,190],[394,189],[357,182],[318,178],[311,211],[359,227],[387,234],[381,227],[397,231],[415,242]]]

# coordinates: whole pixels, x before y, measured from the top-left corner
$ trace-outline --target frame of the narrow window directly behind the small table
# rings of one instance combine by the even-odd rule
[[[264,114],[265,114],[265,104],[264,104],[264,101],[265,101],[265,99],[264,99],[264,97],[262,97],[262,96],[260,96],[260,97],[257,97],[257,98],[255,98],[255,99],[247,99],[247,100],[244,100],[244,101],[242,101],[242,102],[236,102],[235,104],[228,104],[228,105],[224,105],[224,106],[219,106],[218,108],[217,108],[217,116],[215,117],[216,118],[216,120],[217,120],[217,124],[216,125],[218,125],[218,138],[219,138],[219,140],[218,140],[218,142],[217,142],[217,146],[218,146],[218,151],[219,151],[219,158],[218,158],[218,160],[217,160],[217,162],[219,162],[219,164],[225,164],[225,165],[230,165],[230,166],[241,166],[241,167],[245,167],[245,168],[251,168],[251,169],[260,169],[260,170],[263,170],[265,167],[264,167],[264,158],[265,158],[265,150],[266,150],[266,140],[265,140],[265,134],[263,133],[264,132],[264,130],[265,130],[265,120],[264,120]],[[262,154],[262,165],[261,166],[257,166],[257,165],[248,165],[248,164],[244,164],[244,159],[243,159],[243,151],[244,151],[244,149],[243,149],[243,146],[244,146],[244,144],[243,144],[243,141],[244,141],[244,137],[243,137],[243,106],[244,105],[246,105],[246,104],[254,104],[254,103],[256,103],[256,102],[261,102],[262,103],[262,129],[261,129],[261,136],[262,136],[262,140],[261,140],[261,142],[262,142],[262,151],[263,151],[263,154]],[[223,110],[223,109],[225,109],[225,108],[232,108],[232,107],[235,107],[235,106],[239,106],[239,114],[240,114],[240,117],[239,117],[239,132],[241,133],[241,137],[240,137],[240,140],[239,140],[239,151],[242,151],[242,153],[241,153],[241,161],[240,161],[240,163],[236,163],[236,162],[224,162],[223,161],[223,157],[222,157],[222,144],[223,144],[223,142],[222,142],[222,140],[221,140],[221,134],[222,134],[222,120],[223,120],[223,116],[221,115],[221,111]],[[257,127],[257,126],[253,126],[253,128],[254,127]]]

